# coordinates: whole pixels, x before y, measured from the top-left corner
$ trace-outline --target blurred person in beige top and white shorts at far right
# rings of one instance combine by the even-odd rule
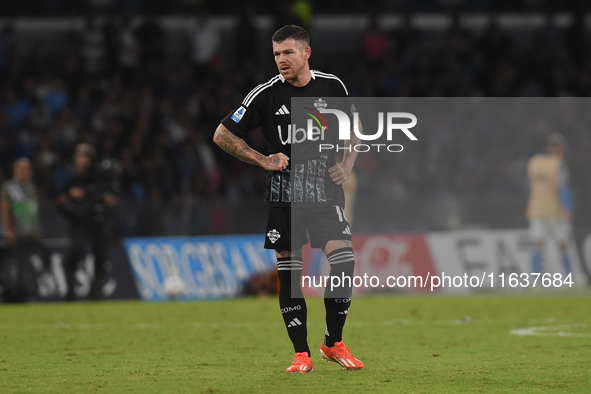
[[[564,137],[551,133],[546,139],[547,153],[533,156],[527,165],[530,196],[526,217],[534,242],[532,273],[541,273],[544,239],[549,237],[560,246],[566,274],[572,273],[567,246],[571,236],[573,200],[564,163]]]

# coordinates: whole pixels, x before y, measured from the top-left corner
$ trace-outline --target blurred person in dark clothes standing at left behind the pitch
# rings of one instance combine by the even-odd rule
[[[94,280],[89,298],[101,299],[102,288],[107,280],[107,252],[113,234],[116,233],[116,180],[113,179],[112,171],[99,166],[97,152],[89,144],[76,146],[74,169],[74,174],[58,200],[59,210],[70,224],[71,247],[64,260],[68,285],[66,300],[76,298],[76,270],[88,245],[94,256]]]

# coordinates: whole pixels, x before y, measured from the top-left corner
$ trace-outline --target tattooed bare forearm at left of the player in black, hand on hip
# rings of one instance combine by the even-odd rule
[[[232,156],[248,164],[263,167],[267,171],[283,171],[287,168],[289,157],[283,153],[265,156],[252,149],[240,137],[234,135],[224,125],[220,124],[215,131],[213,141]]]

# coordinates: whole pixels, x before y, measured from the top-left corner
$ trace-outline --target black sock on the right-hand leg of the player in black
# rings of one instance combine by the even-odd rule
[[[337,276],[340,279],[340,286],[331,288],[332,282],[329,280],[324,290],[324,307],[326,309],[324,344],[332,347],[335,342],[343,340],[343,327],[349,313],[353,293],[355,257],[352,248],[334,250],[326,257],[330,264],[330,276]]]

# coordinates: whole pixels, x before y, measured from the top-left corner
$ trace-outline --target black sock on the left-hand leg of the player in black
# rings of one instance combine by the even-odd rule
[[[296,353],[308,352],[308,310],[300,286],[303,262],[301,257],[280,257],[277,259],[279,275],[279,307],[287,327],[287,334]]]

